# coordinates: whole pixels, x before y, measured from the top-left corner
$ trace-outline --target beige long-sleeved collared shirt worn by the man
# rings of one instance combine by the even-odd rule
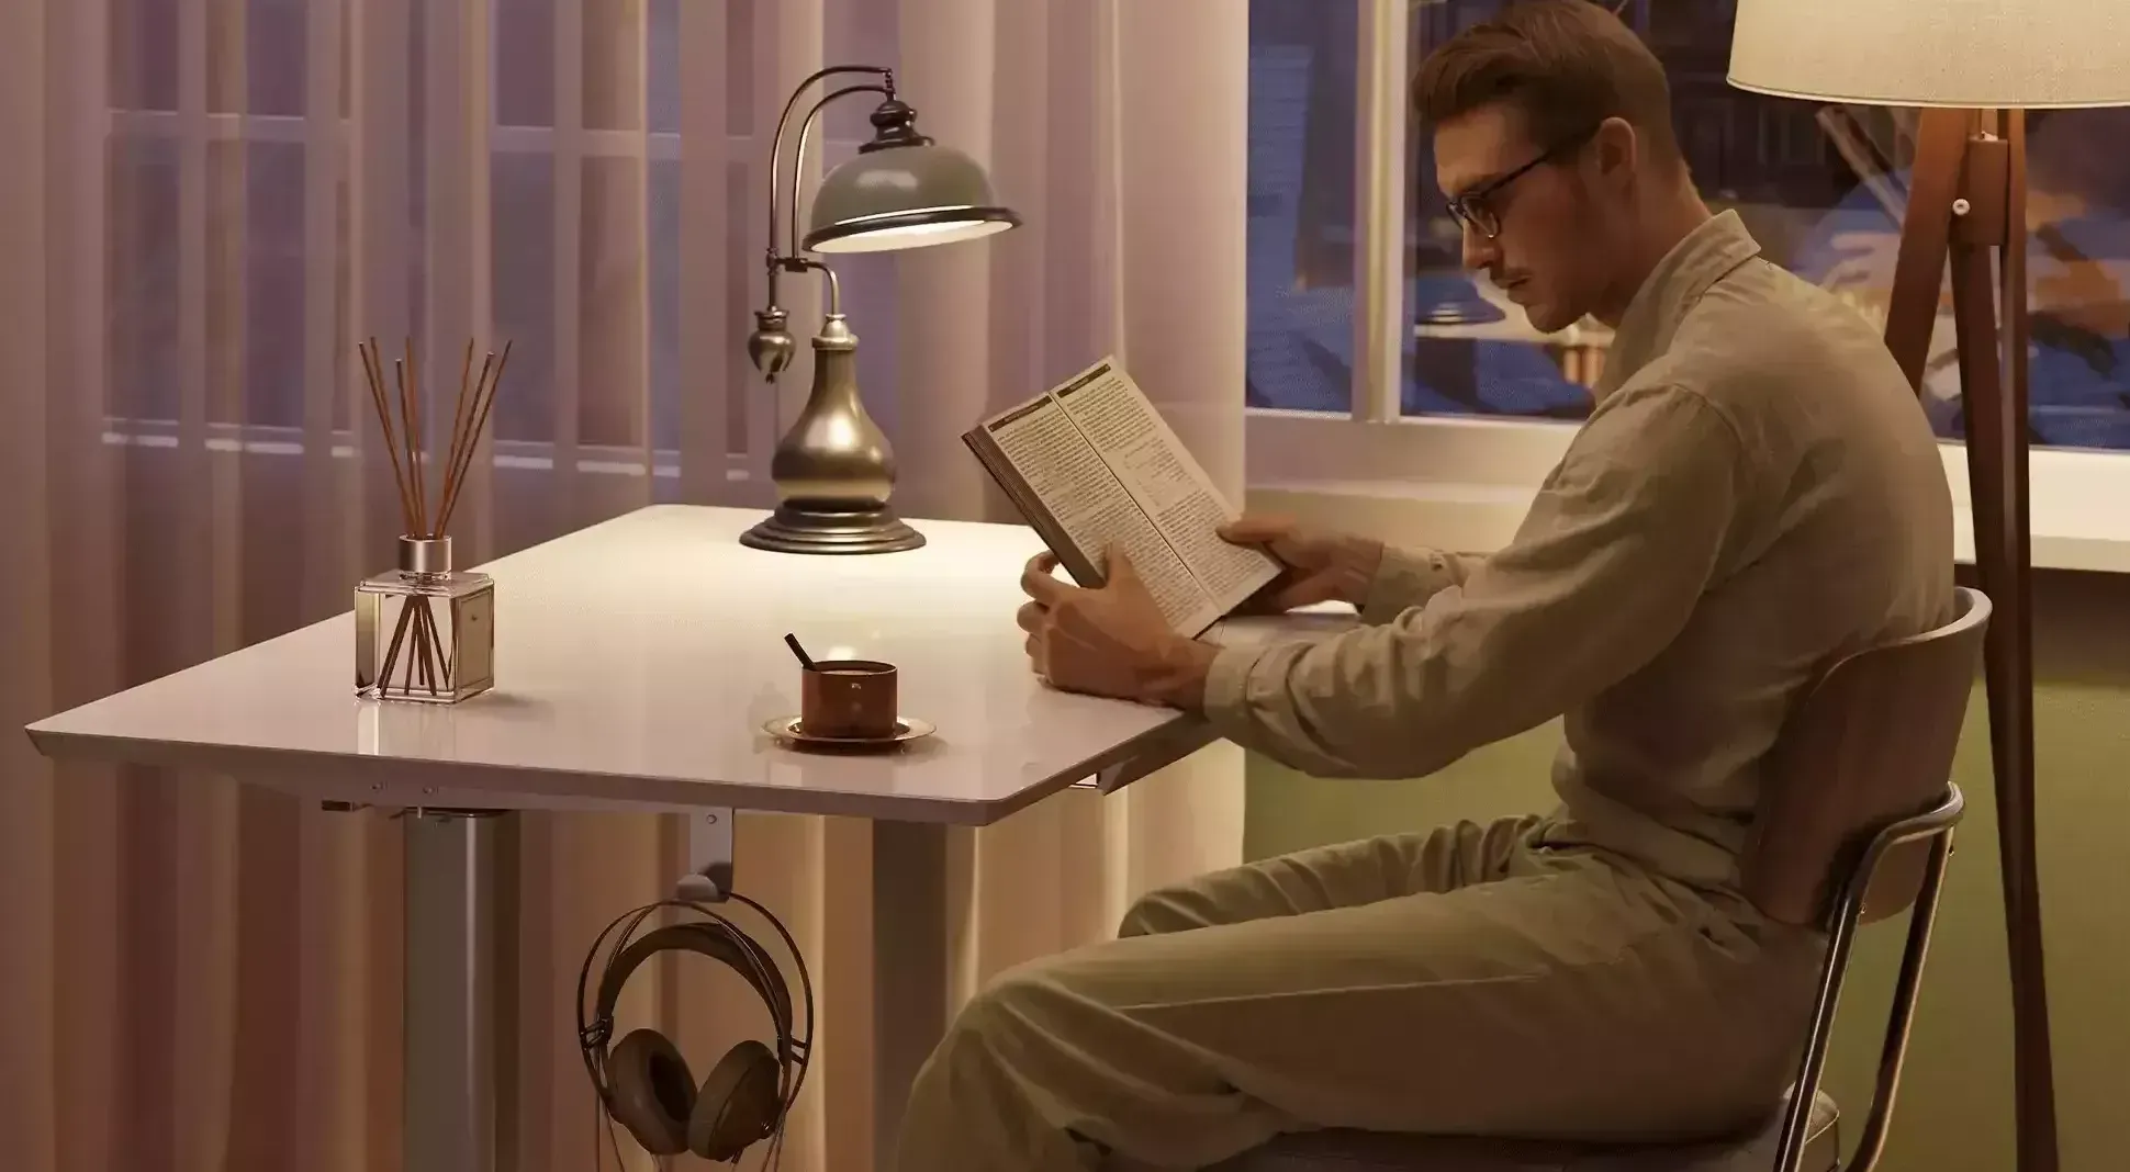
[[[1802,689],[1951,617],[1938,447],[1879,334],[1734,213],[1651,272],[1593,400],[1506,549],[1384,551],[1361,627],[1223,651],[1206,710],[1380,778],[1566,717],[1551,838],[1732,887]]]

